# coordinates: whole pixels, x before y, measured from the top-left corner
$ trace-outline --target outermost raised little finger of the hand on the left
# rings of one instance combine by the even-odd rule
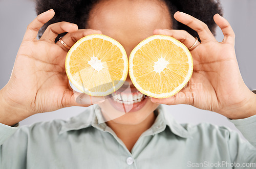
[[[36,40],[40,28],[54,16],[53,9],[38,15],[27,27],[24,40]]]

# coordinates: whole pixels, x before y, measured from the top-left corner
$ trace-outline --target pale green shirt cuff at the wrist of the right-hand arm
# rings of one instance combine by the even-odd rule
[[[228,120],[232,122],[250,144],[256,148],[256,115],[245,119]]]

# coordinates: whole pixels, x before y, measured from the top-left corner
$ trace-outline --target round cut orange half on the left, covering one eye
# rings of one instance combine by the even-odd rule
[[[106,96],[118,90],[128,72],[123,46],[101,34],[78,40],[66,57],[66,73],[71,83],[91,96]]]

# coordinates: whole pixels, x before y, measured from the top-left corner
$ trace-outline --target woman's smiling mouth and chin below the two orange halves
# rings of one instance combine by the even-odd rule
[[[151,102],[149,97],[137,89],[131,91],[129,93],[117,91],[99,104],[106,122],[137,125],[147,119],[158,107],[159,104]]]

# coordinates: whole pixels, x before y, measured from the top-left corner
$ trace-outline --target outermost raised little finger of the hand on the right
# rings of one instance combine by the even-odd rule
[[[220,27],[224,35],[222,42],[234,45],[234,32],[228,21],[219,14],[214,15],[214,21]]]

